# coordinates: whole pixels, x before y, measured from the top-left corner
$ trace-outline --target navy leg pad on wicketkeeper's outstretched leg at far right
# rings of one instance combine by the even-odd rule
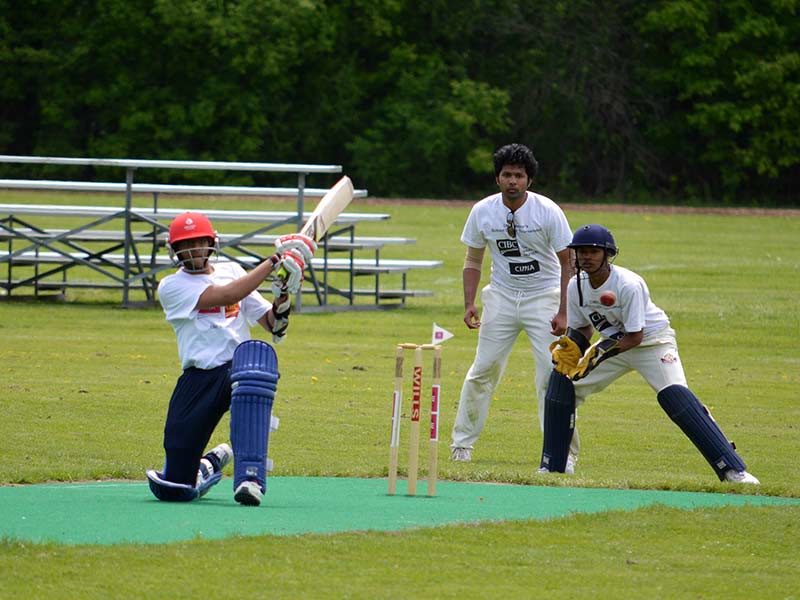
[[[658,393],[658,403],[697,446],[720,481],[724,481],[728,469],[745,470],[744,461],[736,453],[733,444],[689,388],[682,385],[665,387]]]

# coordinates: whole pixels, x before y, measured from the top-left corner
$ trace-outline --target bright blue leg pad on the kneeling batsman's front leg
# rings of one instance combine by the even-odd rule
[[[278,357],[269,344],[239,344],[231,363],[233,489],[253,480],[266,492],[267,447],[272,403],[278,387]]]

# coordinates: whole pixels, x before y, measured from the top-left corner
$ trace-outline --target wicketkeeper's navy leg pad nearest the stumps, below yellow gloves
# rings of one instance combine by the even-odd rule
[[[550,373],[544,405],[541,467],[563,473],[575,431],[575,385],[566,375]]]

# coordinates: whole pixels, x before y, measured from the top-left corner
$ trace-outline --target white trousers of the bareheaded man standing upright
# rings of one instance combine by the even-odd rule
[[[483,312],[478,349],[461,387],[452,448],[472,448],[483,431],[492,394],[521,331],[528,336],[536,362],[539,426],[544,426],[544,398],[553,370],[549,347],[557,339],[550,334],[550,320],[558,312],[559,299],[558,287],[534,294],[501,290],[491,285],[481,290]],[[577,454],[580,444],[577,430],[572,440],[570,449]]]

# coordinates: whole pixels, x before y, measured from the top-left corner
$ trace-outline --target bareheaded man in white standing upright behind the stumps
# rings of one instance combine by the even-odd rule
[[[566,327],[566,289],[572,274],[572,232],[559,206],[528,191],[538,164],[529,148],[510,144],[494,154],[500,193],[477,202],[467,218],[461,241],[464,261],[464,322],[479,329],[475,361],[461,388],[452,459],[470,461],[486,424],[489,403],[524,331],[536,362],[539,423],[544,423],[544,394],[552,369],[549,346]],[[475,296],[486,248],[492,257],[489,284],[481,291],[483,313]],[[575,436],[574,450],[578,440]]]

